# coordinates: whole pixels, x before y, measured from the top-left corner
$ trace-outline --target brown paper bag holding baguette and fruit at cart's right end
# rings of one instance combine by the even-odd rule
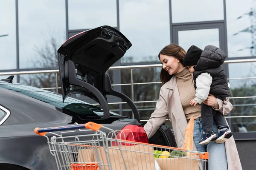
[[[183,156],[178,158],[158,158],[161,170],[199,170],[198,156]]]

